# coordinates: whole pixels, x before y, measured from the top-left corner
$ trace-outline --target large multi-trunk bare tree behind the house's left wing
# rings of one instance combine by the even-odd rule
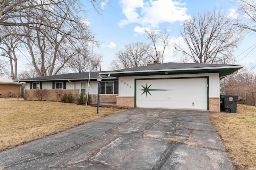
[[[20,18],[20,23],[28,22],[31,27],[19,26],[20,33],[17,31],[16,37],[29,52],[28,60],[39,76],[56,75],[61,72],[68,60],[76,55],[81,44],[92,39],[89,25],[78,17],[78,11],[70,3],[72,0],[58,4],[59,8],[54,8],[52,12],[55,14],[53,16],[48,16],[45,12],[48,6],[39,6],[38,11],[34,8],[27,10],[32,14],[37,13],[40,17]],[[11,28],[8,27],[8,30]],[[24,35],[18,36],[22,34]]]

